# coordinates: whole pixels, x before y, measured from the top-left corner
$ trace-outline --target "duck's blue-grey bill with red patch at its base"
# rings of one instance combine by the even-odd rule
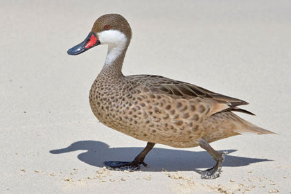
[[[80,44],[73,46],[73,48],[70,48],[67,53],[69,55],[79,55],[80,53],[83,53],[90,48],[93,48],[94,46],[97,46],[100,44],[100,41],[98,40],[98,37],[94,33],[89,33],[89,35],[86,37],[86,39],[81,42]]]

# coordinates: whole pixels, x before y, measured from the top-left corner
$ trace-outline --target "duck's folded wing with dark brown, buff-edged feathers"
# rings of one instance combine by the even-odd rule
[[[145,93],[147,93],[146,91],[148,89],[148,92],[151,94],[166,94],[174,99],[184,98],[190,100],[199,98],[202,102],[211,102],[212,110],[209,115],[224,111],[252,114],[252,112],[237,107],[240,105],[248,105],[249,103],[245,100],[224,96],[187,82],[172,80],[161,76],[139,75],[136,78],[139,79],[139,82],[143,82],[141,85]]]

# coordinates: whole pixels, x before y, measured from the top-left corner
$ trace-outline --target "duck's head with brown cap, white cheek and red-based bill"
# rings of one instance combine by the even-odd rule
[[[69,55],[78,55],[98,44],[108,44],[111,48],[124,50],[132,37],[130,24],[118,14],[107,14],[99,17],[89,35],[80,44],[68,50]]]

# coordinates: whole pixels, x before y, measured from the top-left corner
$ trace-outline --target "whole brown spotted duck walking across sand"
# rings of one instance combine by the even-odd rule
[[[91,87],[89,100],[101,123],[149,142],[127,165],[144,164],[145,155],[155,143],[175,148],[200,145],[217,161],[215,168],[202,173],[202,177],[215,178],[224,154],[207,142],[243,132],[272,133],[233,114],[232,111],[251,114],[237,107],[247,105],[244,100],[161,76],[123,76],[123,59],[131,37],[131,28],[121,15],[103,15],[87,39],[68,51],[77,55],[98,44],[109,44],[105,65]]]

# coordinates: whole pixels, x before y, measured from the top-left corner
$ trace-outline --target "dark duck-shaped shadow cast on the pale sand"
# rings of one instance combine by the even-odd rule
[[[143,148],[109,148],[109,145],[100,141],[77,141],[67,148],[51,150],[51,154],[62,154],[77,150],[85,150],[78,155],[78,159],[91,166],[103,167],[104,161],[132,161]],[[234,157],[229,154],[236,150],[227,151],[222,166],[247,166],[252,163],[271,161],[269,159],[257,159],[248,157]],[[145,163],[149,168],[141,167],[143,171],[198,171],[198,168],[211,168],[215,161],[208,152],[193,152],[185,150],[172,150],[164,148],[153,148],[145,157]]]

